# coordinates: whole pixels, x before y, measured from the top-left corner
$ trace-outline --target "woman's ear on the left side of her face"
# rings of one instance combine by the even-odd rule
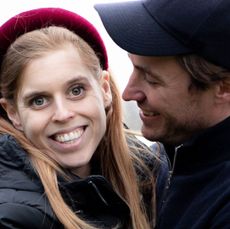
[[[3,109],[6,111],[7,116],[9,120],[12,122],[14,127],[18,130],[23,130],[23,127],[21,125],[21,120],[18,115],[17,109],[15,106],[13,106],[11,103],[9,103],[6,99],[1,98],[0,104],[3,107]]]

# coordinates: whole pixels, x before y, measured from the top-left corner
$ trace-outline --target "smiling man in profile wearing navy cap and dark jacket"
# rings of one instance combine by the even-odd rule
[[[95,6],[133,73],[142,133],[172,164],[157,228],[230,228],[230,1]]]

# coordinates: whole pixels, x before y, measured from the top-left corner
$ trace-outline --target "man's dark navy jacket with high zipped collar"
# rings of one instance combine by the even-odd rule
[[[230,228],[230,117],[173,149],[157,229]],[[174,162],[173,162],[173,158]]]

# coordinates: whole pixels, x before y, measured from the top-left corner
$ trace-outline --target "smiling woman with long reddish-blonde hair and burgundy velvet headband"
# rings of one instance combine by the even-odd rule
[[[41,8],[0,43],[1,228],[151,228],[159,161],[123,130],[95,28]]]

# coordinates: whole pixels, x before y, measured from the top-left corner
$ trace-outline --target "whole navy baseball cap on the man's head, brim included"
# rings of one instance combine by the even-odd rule
[[[95,9],[114,42],[130,53],[195,53],[230,69],[230,0],[136,0]]]

